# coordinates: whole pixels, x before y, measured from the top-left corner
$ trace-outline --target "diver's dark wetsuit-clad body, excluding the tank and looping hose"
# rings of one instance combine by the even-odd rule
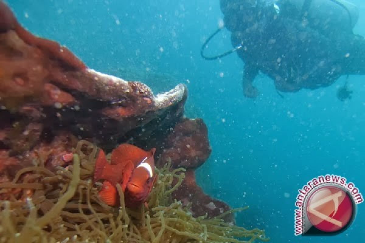
[[[283,0],[285,1],[285,0]],[[280,3],[280,2],[279,2]],[[254,0],[220,0],[225,27],[234,46],[242,45],[243,87],[247,97],[258,91],[252,82],[261,71],[278,90],[295,92],[331,85],[341,75],[365,74],[365,40],[349,32],[317,31],[291,9]]]

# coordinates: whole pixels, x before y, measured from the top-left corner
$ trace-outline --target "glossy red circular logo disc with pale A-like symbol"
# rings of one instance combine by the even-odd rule
[[[336,186],[323,186],[311,193],[307,217],[320,231],[335,233],[346,229],[353,220],[354,203],[351,196]]]

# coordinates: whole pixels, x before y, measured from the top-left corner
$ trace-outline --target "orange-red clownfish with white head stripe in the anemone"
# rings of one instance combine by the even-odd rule
[[[116,184],[119,183],[127,207],[144,203],[156,179],[154,153],[154,148],[146,152],[131,144],[121,144],[112,151],[109,164],[100,150],[93,178],[94,182],[104,180],[100,199],[111,206],[118,204]]]

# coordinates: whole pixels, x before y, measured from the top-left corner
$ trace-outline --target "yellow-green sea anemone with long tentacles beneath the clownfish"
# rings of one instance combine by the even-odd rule
[[[0,183],[0,242],[254,242],[267,241],[264,231],[232,226],[222,219],[193,217],[188,207],[172,199],[182,183],[184,169],[170,170],[170,164],[156,169],[158,179],[149,198],[149,209],[125,207],[117,184],[120,207],[106,205],[97,195],[101,185],[92,183],[98,148],[80,141],[73,165],[46,169],[44,161],[18,171],[11,182]],[[173,182],[174,181],[174,182]],[[177,181],[177,184],[174,184]],[[13,193],[15,192],[15,193]],[[241,240],[239,240],[241,239]]]

